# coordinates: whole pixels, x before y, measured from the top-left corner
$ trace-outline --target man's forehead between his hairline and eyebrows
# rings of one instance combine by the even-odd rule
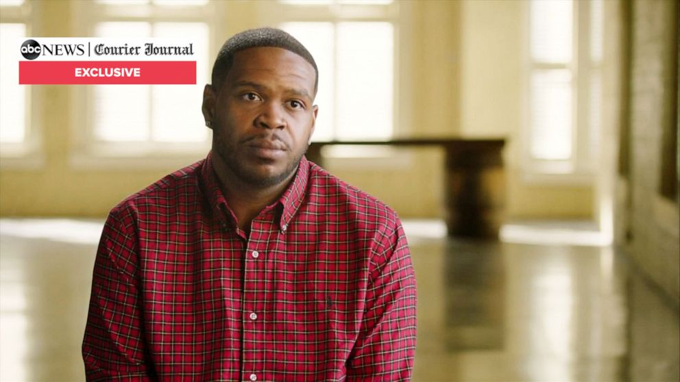
[[[234,53],[227,84],[235,81],[283,81],[314,90],[314,67],[300,55],[276,47],[256,47]]]

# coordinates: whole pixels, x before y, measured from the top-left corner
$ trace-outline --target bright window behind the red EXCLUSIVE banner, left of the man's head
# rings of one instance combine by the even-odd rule
[[[97,0],[90,36],[178,38],[197,52],[196,85],[88,86],[88,145],[99,153],[155,155],[206,151],[200,113],[208,83],[207,0]],[[192,111],[192,112],[189,112]]]

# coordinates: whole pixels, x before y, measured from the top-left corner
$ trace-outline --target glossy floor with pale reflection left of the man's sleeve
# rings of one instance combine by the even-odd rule
[[[94,251],[1,235],[1,381],[84,381],[80,342]]]

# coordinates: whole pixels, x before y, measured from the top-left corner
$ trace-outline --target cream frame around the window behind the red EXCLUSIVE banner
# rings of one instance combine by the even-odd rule
[[[102,22],[186,22],[206,23],[208,25],[208,62],[206,71],[209,75],[214,58],[215,36],[221,33],[217,22],[215,2],[195,8],[173,5],[125,4],[114,5],[88,1],[72,7],[75,36],[93,36],[97,23]],[[201,65],[202,62],[197,62]],[[197,84],[201,85],[201,84]],[[124,86],[124,85],[121,85]],[[153,85],[150,85],[153,86]],[[71,118],[74,121],[71,131],[71,155],[69,162],[73,168],[167,168],[186,166],[205,157],[210,150],[212,133],[208,130],[202,142],[158,142],[143,140],[139,142],[107,142],[97,140],[92,128],[95,121],[95,89],[92,86],[72,86]],[[195,110],[200,113],[199,109]],[[191,128],[191,127],[189,127]],[[208,129],[203,125],[195,128]]]

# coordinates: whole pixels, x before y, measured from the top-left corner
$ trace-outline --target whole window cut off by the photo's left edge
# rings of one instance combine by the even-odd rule
[[[0,151],[3,157],[21,156],[34,143],[29,118],[29,88],[19,85],[18,49],[27,36],[29,5],[0,2]]]

